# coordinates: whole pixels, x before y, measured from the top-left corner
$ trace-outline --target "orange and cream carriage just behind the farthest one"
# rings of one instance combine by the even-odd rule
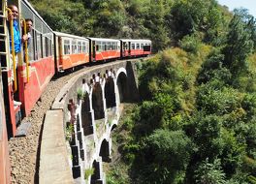
[[[90,37],[88,40],[90,62],[108,61],[121,57],[119,40]]]

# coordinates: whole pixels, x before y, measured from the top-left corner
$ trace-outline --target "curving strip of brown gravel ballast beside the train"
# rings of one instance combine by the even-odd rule
[[[86,67],[72,74],[51,79],[41,97],[41,101],[38,101],[31,114],[22,120],[21,123],[30,122],[31,126],[26,137],[9,140],[12,183],[38,183],[38,159],[45,114],[65,83],[71,77],[85,71]]]

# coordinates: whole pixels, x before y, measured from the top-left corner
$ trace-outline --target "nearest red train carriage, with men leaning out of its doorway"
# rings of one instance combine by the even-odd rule
[[[9,137],[14,137],[16,136],[16,127],[21,121],[21,114],[27,116],[30,113],[50,78],[54,75],[54,54],[53,32],[32,6],[26,0],[8,1],[8,4],[5,2],[3,6],[6,9],[9,5],[16,5],[18,8],[20,33],[22,33],[20,22],[24,21],[25,18],[33,20],[29,45],[27,47],[21,46],[21,51],[16,54],[17,66],[13,72],[13,81],[9,46],[12,31],[7,29],[9,22],[6,17],[8,13],[6,10],[4,11],[4,29],[1,29],[1,33],[5,37],[1,40],[1,46],[3,46],[1,64],[2,69],[5,70],[2,70],[2,77],[8,133]],[[21,102],[21,105],[15,106],[14,100]]]

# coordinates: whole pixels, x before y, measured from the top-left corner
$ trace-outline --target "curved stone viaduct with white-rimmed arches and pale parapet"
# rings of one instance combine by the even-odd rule
[[[106,183],[121,104],[139,100],[136,62],[89,68],[62,88],[44,122],[40,183]]]

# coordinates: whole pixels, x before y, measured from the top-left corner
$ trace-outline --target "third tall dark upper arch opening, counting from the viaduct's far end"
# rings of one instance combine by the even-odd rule
[[[94,119],[103,119],[105,117],[103,93],[100,83],[95,83],[92,91],[92,108],[94,109]]]

